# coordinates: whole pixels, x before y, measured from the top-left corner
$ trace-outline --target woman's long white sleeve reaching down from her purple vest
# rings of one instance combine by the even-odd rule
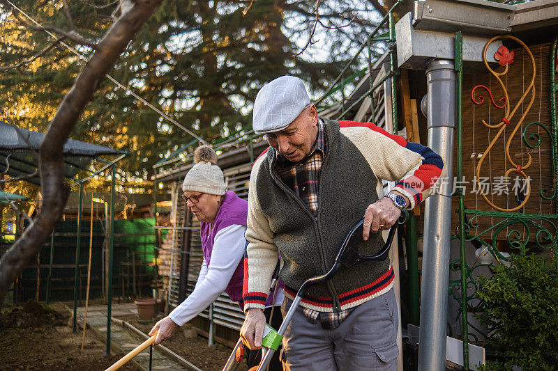
[[[211,260],[204,277],[203,266],[194,291],[169,314],[179,326],[199,315],[227,288],[229,281],[244,255],[246,226],[234,224],[217,232],[211,251]],[[205,261],[204,261],[205,262]],[[201,281],[200,281],[201,278]]]

